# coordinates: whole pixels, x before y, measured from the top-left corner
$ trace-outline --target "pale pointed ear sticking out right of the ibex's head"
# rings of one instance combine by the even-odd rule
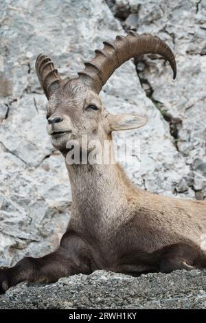
[[[144,126],[148,118],[135,113],[108,115],[108,124],[111,131],[137,129]]]

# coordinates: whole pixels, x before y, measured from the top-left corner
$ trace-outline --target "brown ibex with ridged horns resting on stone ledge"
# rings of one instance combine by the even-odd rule
[[[129,32],[105,41],[86,62],[78,78],[62,81],[52,60],[36,59],[36,73],[49,100],[47,132],[66,158],[71,140],[81,153],[89,140],[112,140],[113,131],[144,126],[136,113],[111,115],[98,94],[115,69],[140,54],[160,54],[176,61],[157,36]],[[88,151],[86,151],[88,154]],[[112,152],[113,154],[113,152]],[[24,280],[54,282],[62,276],[106,269],[138,276],[152,271],[206,267],[201,236],[206,233],[206,201],[187,201],[152,194],[126,177],[118,164],[67,164],[72,192],[71,219],[60,247],[41,258],[26,257],[0,271],[1,293]]]

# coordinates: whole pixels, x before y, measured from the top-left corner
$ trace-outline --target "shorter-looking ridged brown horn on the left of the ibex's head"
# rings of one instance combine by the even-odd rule
[[[40,54],[36,58],[35,68],[41,87],[49,100],[49,96],[59,87],[62,79],[58,74],[58,70],[55,69],[51,58],[44,54]]]

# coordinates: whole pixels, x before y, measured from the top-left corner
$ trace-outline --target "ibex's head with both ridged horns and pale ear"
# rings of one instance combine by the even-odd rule
[[[166,58],[176,76],[176,62],[170,47],[157,36],[129,32],[117,36],[113,43],[105,41],[104,49],[95,50],[91,62],[78,78],[64,82],[52,60],[41,54],[36,59],[36,73],[49,100],[47,108],[47,132],[52,144],[60,151],[65,150],[69,140],[79,141],[83,134],[88,140],[106,140],[116,130],[135,129],[147,118],[136,113],[111,115],[104,108],[99,93],[115,69],[126,60],[141,54],[160,54]]]

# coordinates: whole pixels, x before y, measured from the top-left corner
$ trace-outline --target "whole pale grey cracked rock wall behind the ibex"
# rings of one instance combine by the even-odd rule
[[[206,198],[205,1],[108,1],[112,11],[102,0],[0,0],[0,5],[1,265],[51,252],[69,220],[67,171],[49,143],[47,99],[34,72],[41,52],[52,56],[64,78],[76,76],[102,41],[125,34],[123,27],[167,41],[176,53],[175,82],[162,59],[137,58],[137,71],[131,61],[122,65],[105,85],[102,100],[113,113],[148,115],[143,129],[115,135],[117,146],[139,140],[138,158],[124,166],[137,185],[175,197]]]

